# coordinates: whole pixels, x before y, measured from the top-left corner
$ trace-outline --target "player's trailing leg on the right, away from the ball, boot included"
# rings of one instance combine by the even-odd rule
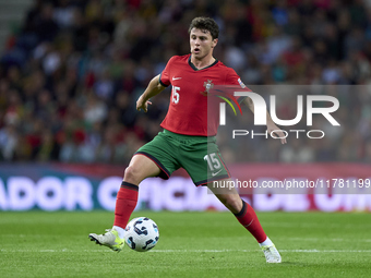
[[[239,196],[237,190],[232,188],[226,188],[225,184],[228,180],[223,180],[223,188],[215,186],[215,182],[208,183],[208,189],[215,194],[215,196],[236,216],[237,220],[256,239],[258,243],[264,252],[267,263],[280,263],[280,255],[270,240],[266,237],[254,209],[246,203]]]

